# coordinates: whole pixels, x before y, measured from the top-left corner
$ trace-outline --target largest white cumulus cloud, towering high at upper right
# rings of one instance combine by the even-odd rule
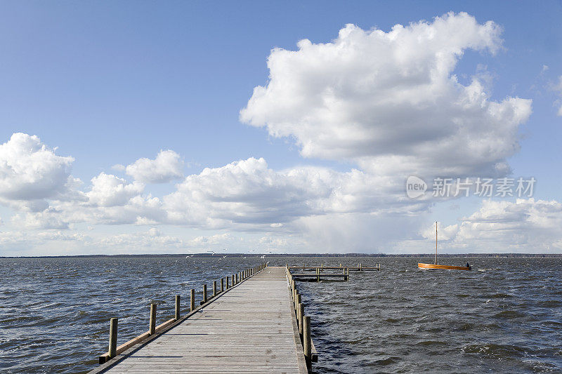
[[[330,43],[275,48],[268,84],[254,88],[240,119],[294,137],[303,156],[353,160],[378,175],[506,173],[530,100],[490,101],[476,78],[464,86],[452,75],[466,49],[501,48],[500,32],[448,13],[390,32],[346,25]]]

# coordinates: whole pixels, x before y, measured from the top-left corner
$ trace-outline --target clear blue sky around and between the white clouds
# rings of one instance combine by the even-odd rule
[[[112,166],[127,166],[141,158],[155,159],[166,149],[173,150],[185,161],[182,166],[185,177],[199,175],[204,168],[221,168],[251,157],[263,158],[272,171],[300,167],[325,168],[337,173],[347,173],[353,168],[365,171],[365,166],[358,166],[358,158],[303,156],[296,141],[299,135],[276,137],[268,133],[265,125],[249,126],[240,121],[240,109],[248,105],[254,87],[268,84],[270,71],[266,61],[272,48],[297,51],[296,43],[301,39],[309,39],[312,44],[329,43],[349,23],[365,32],[371,29],[389,32],[393,25],[407,26],[421,20],[431,23],[433,18],[450,11],[466,12],[481,25],[492,20],[501,27],[501,48],[495,54],[485,49],[464,48],[452,74],[464,86],[470,84],[475,74],[485,77],[483,82],[488,79],[484,83],[490,101],[501,102],[507,97],[532,100],[532,114],[517,128],[516,142],[520,150],[507,154],[511,175],[537,179],[535,200],[562,201],[558,188],[562,178],[556,162],[561,157],[562,124],[562,117],[557,116],[562,91],[556,91],[562,76],[559,1],[492,4],[485,1],[353,4],[343,1],[4,1],[0,4],[0,143],[8,142],[13,133],[25,133],[37,135],[41,144],[50,149],[58,147],[55,154],[74,158],[70,173],[83,182],[77,187],[83,193],[91,189],[91,178],[102,172],[132,182],[132,175],[119,173]],[[403,175],[403,179],[407,176]],[[431,176],[429,172],[421,175]],[[145,182],[140,193],[163,199],[176,191],[178,182],[181,179]],[[53,196],[48,199],[55,199]],[[221,199],[235,200],[233,196]],[[248,199],[245,196],[238,203],[247,203]],[[22,201],[20,197],[16,200]],[[415,248],[423,248],[422,232],[431,222],[439,220],[449,227],[460,225],[459,220],[478,211],[481,203],[480,198],[429,202],[421,208],[423,213],[415,222],[411,218],[414,208],[410,213],[400,213],[408,222],[407,229],[396,229],[396,235],[389,234],[382,240],[388,243],[384,246],[371,248],[362,242],[346,248],[348,238],[343,235],[334,238],[337,245],[328,251],[342,248],[340,251],[344,252],[419,252]],[[373,204],[375,208],[370,211],[361,209],[353,214],[378,212],[379,206]],[[303,206],[310,205],[309,201],[303,202]],[[49,203],[49,206],[53,210],[56,204]],[[63,254],[66,252],[60,251],[58,239],[37,238],[65,237],[68,243],[70,236],[81,238],[72,240],[73,253],[129,253],[137,251],[131,249],[137,248],[133,241],[144,240],[142,233],[150,229],[150,237],[166,237],[165,242],[174,243],[173,246],[150,243],[138,251],[207,251],[212,247],[207,239],[201,239],[204,244],[200,246],[185,241],[219,236],[226,239],[212,242],[217,248],[228,246],[231,251],[243,251],[246,246],[280,252],[325,248],[325,243],[314,239],[322,234],[295,227],[302,226],[297,218],[322,216],[320,220],[329,220],[326,211],[302,215],[293,211],[292,218],[287,219],[276,206],[254,204],[251,211],[255,212],[258,206],[263,210],[261,213],[273,211],[271,214],[280,215],[280,222],[285,222],[283,227],[292,223],[292,229],[280,232],[250,227],[248,222],[241,226],[201,226],[171,220],[150,220],[147,225],[117,220],[107,225],[105,222],[110,220],[81,218],[70,222],[65,218],[67,222],[61,225],[28,225],[22,237],[21,223],[14,216],[23,219],[24,215],[41,212],[18,208],[6,200],[0,210],[3,222],[0,230],[4,235],[0,255],[45,251]],[[543,208],[530,207],[533,211]],[[61,209],[59,204],[55,210]],[[523,217],[533,216],[519,213]],[[224,216],[221,213],[216,218]],[[264,219],[263,215],[260,217]],[[354,219],[361,220],[359,215]],[[497,219],[496,223],[505,221]],[[255,224],[258,218],[251,220]],[[368,227],[367,222],[370,221],[365,221]],[[490,218],[485,222],[490,222]],[[260,223],[277,225],[270,216]],[[397,225],[401,224],[398,220]],[[304,226],[311,229],[317,225],[320,223]],[[544,229],[537,227],[540,232]],[[474,230],[473,227],[471,232]],[[129,235],[126,244],[102,243],[119,235]],[[457,239],[451,234],[450,238],[444,237],[443,246],[447,248],[449,239],[450,251],[502,251],[502,248],[535,251],[537,246],[542,251],[561,251],[556,244],[561,238],[553,235],[546,235],[549,239],[540,245],[525,241],[510,247],[511,243],[504,242],[507,236],[495,238],[492,245],[474,241],[473,234],[457,235]],[[267,239],[262,240],[263,237]],[[270,240],[272,237],[275,241]],[[233,244],[240,239],[243,244]]]

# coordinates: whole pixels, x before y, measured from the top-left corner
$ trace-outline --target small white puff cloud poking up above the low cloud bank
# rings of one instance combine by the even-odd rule
[[[156,159],[138,159],[126,167],[127,175],[143,183],[166,183],[183,178],[183,161],[172,150],[160,151]]]

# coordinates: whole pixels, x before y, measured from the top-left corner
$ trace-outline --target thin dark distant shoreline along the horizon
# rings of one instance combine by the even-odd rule
[[[153,258],[153,257],[176,257],[183,258],[223,258],[223,257],[428,257],[433,258],[435,253],[162,253],[144,255],[60,255],[60,256],[0,256],[0,258]],[[562,258],[562,253],[440,253],[443,258]]]

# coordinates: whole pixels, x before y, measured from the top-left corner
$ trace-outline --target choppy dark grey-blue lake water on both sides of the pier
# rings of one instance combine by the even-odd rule
[[[317,373],[562,372],[561,259],[473,258],[473,272],[418,270],[418,258],[267,258],[271,265],[363,266],[348,282],[299,282]],[[0,259],[0,373],[84,373],[247,258]],[[464,259],[447,258],[451,265]],[[356,265],[355,265],[356,266]]]

